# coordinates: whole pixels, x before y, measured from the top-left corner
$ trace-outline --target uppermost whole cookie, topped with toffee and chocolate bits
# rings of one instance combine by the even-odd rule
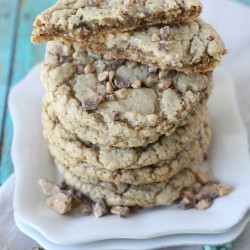
[[[67,130],[116,147],[140,147],[173,133],[212,89],[212,73],[166,72],[59,41],[48,43],[41,78]]]

